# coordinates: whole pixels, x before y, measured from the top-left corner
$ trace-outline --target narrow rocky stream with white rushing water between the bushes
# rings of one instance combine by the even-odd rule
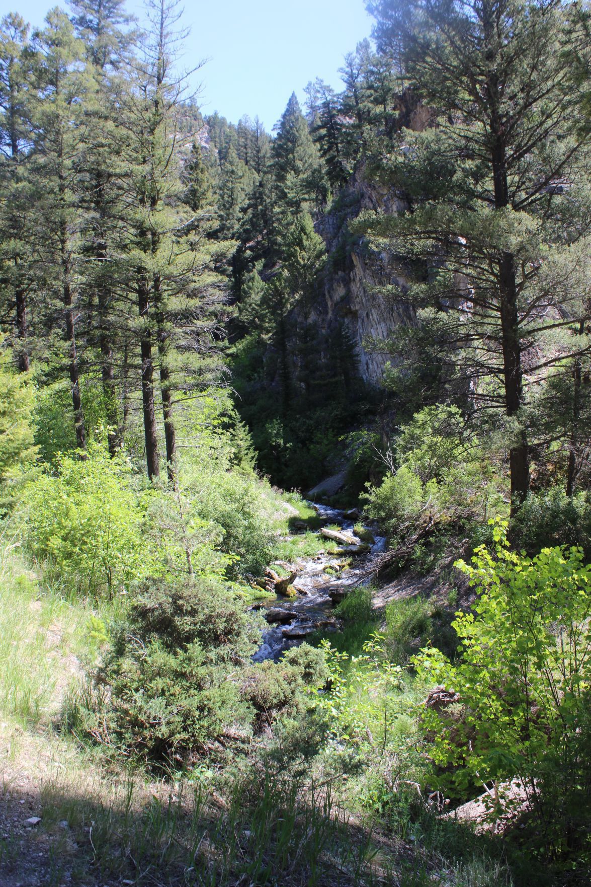
[[[351,515],[351,512],[317,505],[315,502],[307,504],[315,509],[323,525],[338,525],[341,532],[350,536],[355,535],[354,518],[346,516],[346,514]],[[364,529],[369,529],[373,533],[372,528]],[[318,535],[321,535],[321,530],[318,530]],[[338,561],[342,561],[346,556],[346,552],[318,553],[311,557],[298,558],[293,565],[290,565],[298,574],[293,580],[297,597],[288,598],[277,594],[275,598],[256,605],[261,615],[268,621],[281,618],[281,622],[271,622],[268,629],[262,633],[261,647],[253,655],[254,662],[263,662],[265,659],[276,661],[285,650],[298,646],[307,635],[317,629],[338,631],[338,620],[331,614],[335,602],[342,600],[352,587],[360,585],[367,574],[369,558],[385,551],[385,537],[374,534],[374,539],[375,542],[369,546],[368,553],[354,556],[352,566],[339,569],[336,574],[326,573],[325,569],[330,566],[336,567]],[[326,539],[327,548],[334,544],[329,538]],[[283,563],[281,565],[287,566]]]

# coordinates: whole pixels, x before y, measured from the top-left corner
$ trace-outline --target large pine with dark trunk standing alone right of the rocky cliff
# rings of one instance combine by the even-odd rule
[[[394,139],[380,175],[408,211],[367,228],[424,267],[411,297],[431,306],[435,338],[477,403],[504,412],[515,513],[530,484],[526,381],[579,350],[568,328],[588,304],[565,275],[589,206],[564,16],[513,0],[370,5],[380,42],[402,40],[405,75],[439,116],[436,129]]]

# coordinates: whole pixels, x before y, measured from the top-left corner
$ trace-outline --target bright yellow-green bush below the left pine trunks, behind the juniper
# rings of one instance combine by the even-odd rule
[[[133,481],[128,460],[111,459],[105,443],[90,443],[84,459],[62,456],[56,474],[39,475],[23,491],[27,546],[82,593],[128,588],[153,566]]]

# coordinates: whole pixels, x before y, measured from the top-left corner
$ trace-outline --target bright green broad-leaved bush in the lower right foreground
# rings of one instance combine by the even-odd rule
[[[591,569],[577,548],[544,548],[533,559],[512,552],[506,527],[494,522],[494,553],[481,546],[472,566],[457,562],[479,592],[472,612],[456,614],[459,660],[436,649],[416,658],[423,679],[454,689],[463,707],[459,718],[426,710],[424,729],[444,781],[517,778],[552,831],[564,823],[543,786],[540,794],[540,774],[564,769],[588,726]],[[575,767],[565,790],[578,778]]]

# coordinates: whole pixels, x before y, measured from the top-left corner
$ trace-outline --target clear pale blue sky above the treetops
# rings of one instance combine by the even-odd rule
[[[0,0],[0,12],[17,10],[41,25],[56,0]],[[66,3],[60,5],[66,6]],[[141,19],[141,2],[128,11]],[[218,111],[231,122],[257,114],[266,130],[281,117],[292,91],[321,77],[341,88],[338,68],[371,31],[363,0],[187,0],[183,24],[191,28],[182,67],[208,59],[194,76],[203,114]]]

